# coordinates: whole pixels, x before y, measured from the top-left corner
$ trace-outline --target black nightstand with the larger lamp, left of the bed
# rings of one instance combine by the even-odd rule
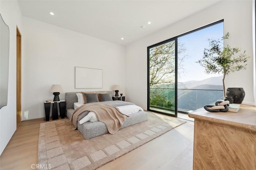
[[[50,108],[52,106],[52,120],[59,119],[58,111],[60,111],[61,119],[64,119],[66,116],[66,101],[53,101],[53,102],[44,102],[44,112],[45,112],[45,121],[50,120]],[[58,107],[59,105],[59,107]]]

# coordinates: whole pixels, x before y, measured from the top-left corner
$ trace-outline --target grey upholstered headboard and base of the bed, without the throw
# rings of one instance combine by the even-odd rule
[[[78,96],[76,95],[78,92],[67,92],[65,93],[66,100],[66,114],[68,119],[70,119],[75,111],[74,107],[79,107]],[[96,93],[108,93],[112,95],[112,91],[96,91]],[[75,103],[75,105],[74,105]],[[111,103],[111,104],[110,104]],[[117,103],[117,104],[115,104]],[[129,102],[125,101],[102,101],[97,104],[108,104],[108,105],[129,105]],[[133,104],[133,103],[132,103]],[[142,111],[138,111],[136,113],[128,113],[128,118],[124,121],[121,128],[128,127],[143,121],[148,120],[148,113]],[[83,134],[86,139],[94,138],[96,136],[100,136],[102,134],[108,133],[108,128],[105,123],[101,121],[91,122],[87,121],[85,123],[80,124],[77,122],[77,129]]]

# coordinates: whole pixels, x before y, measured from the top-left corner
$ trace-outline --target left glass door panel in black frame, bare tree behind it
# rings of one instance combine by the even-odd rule
[[[177,117],[177,39],[148,47],[148,110]]]

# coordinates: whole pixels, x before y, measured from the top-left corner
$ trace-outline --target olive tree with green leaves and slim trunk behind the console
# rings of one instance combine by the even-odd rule
[[[250,56],[246,55],[245,51],[244,53],[238,54],[238,52],[241,51],[240,47],[231,47],[229,45],[224,47],[222,42],[228,39],[229,36],[230,34],[227,33],[221,40],[208,39],[209,48],[205,48],[202,59],[196,61],[196,63],[199,63],[205,68],[207,74],[223,74],[222,83],[224,97],[226,97],[226,75],[231,72],[239,71],[240,69],[246,69],[247,64],[245,64],[245,62],[250,58]]]

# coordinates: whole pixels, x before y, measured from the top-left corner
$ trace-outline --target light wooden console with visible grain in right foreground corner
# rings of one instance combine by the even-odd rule
[[[194,118],[194,170],[256,170],[256,107],[238,113],[188,114]]]

